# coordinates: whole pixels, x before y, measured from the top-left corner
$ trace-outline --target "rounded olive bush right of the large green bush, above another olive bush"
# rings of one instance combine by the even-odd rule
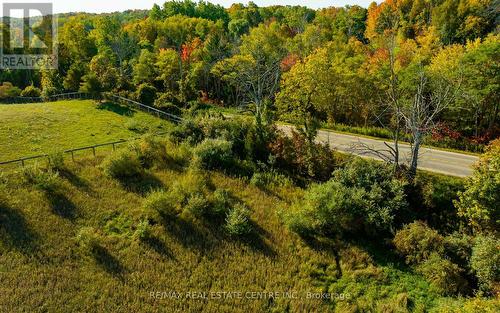
[[[406,258],[406,263],[419,264],[432,253],[444,252],[444,238],[427,224],[416,221],[399,230],[394,237],[396,250]]]

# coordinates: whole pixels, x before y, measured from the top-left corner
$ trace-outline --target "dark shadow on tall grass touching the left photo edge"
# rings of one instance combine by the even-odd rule
[[[31,255],[38,250],[37,238],[24,216],[0,201],[0,240],[7,247]]]

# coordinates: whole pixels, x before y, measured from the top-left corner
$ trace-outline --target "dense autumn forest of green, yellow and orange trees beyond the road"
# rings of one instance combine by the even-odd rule
[[[59,69],[3,70],[0,97],[112,91],[166,111],[244,107],[263,123],[382,127],[472,151],[499,134],[493,0],[317,11],[186,0],[58,20]],[[407,121],[416,98],[432,120]]]

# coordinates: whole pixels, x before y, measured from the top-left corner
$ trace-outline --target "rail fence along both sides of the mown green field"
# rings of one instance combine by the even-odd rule
[[[145,104],[142,104],[140,102],[137,102],[137,101],[134,101],[134,100],[130,100],[130,99],[118,96],[118,95],[106,94],[106,93],[71,92],[71,93],[57,94],[57,95],[53,95],[53,96],[46,97],[46,98],[42,98],[42,97],[17,97],[17,99],[19,99],[19,100],[30,101],[30,102],[37,102],[37,101],[46,102],[47,99],[60,100],[60,99],[77,99],[77,98],[78,99],[94,99],[94,100],[100,100],[100,99],[116,100],[117,102],[119,102],[121,104],[125,104],[125,105],[128,105],[128,106],[134,106],[134,107],[139,108],[139,109],[141,109],[143,111],[146,111],[146,112],[148,112],[150,114],[155,114],[159,118],[167,119],[167,120],[169,120],[169,121],[171,121],[173,123],[181,123],[184,120],[182,117],[179,117],[177,115],[173,115],[173,114],[170,114],[170,113],[167,113],[167,112],[163,112],[161,110],[158,110],[156,108],[153,108],[153,107],[145,105]],[[15,98],[12,98],[12,99],[15,99]],[[26,103],[26,102],[24,102],[24,103]],[[158,136],[158,135],[162,135],[162,134],[164,134],[164,133],[157,133],[155,135]],[[63,151],[63,153],[65,153],[65,154],[71,154],[71,158],[74,161],[75,160],[74,153],[77,152],[77,151],[83,151],[83,150],[90,150],[90,149],[92,149],[93,154],[95,156],[96,155],[96,151],[95,151],[96,148],[105,147],[105,146],[113,146],[113,150],[114,150],[115,146],[117,144],[128,142],[128,141],[133,141],[133,140],[137,140],[137,139],[139,139],[139,138],[132,138],[132,139],[127,139],[127,140],[121,139],[119,141],[114,141],[114,142],[109,142],[109,143],[96,144],[96,145],[93,145],[93,146],[87,146],[87,147],[81,147],[81,148],[75,148],[75,149],[65,150],[65,151]],[[30,157],[24,157],[24,158],[20,158],[20,159],[16,159],[16,160],[3,161],[3,162],[0,162],[0,165],[7,165],[7,164],[13,164],[13,163],[21,163],[21,165],[24,166],[25,165],[25,161],[35,160],[35,159],[42,159],[42,158],[49,158],[49,156],[50,156],[49,154],[40,154],[40,155],[30,156]]]

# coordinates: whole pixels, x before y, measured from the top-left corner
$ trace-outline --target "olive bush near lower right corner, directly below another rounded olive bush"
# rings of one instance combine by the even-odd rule
[[[461,275],[463,270],[455,263],[441,258],[437,253],[432,253],[417,267],[417,271],[444,295],[462,293],[467,285]]]

